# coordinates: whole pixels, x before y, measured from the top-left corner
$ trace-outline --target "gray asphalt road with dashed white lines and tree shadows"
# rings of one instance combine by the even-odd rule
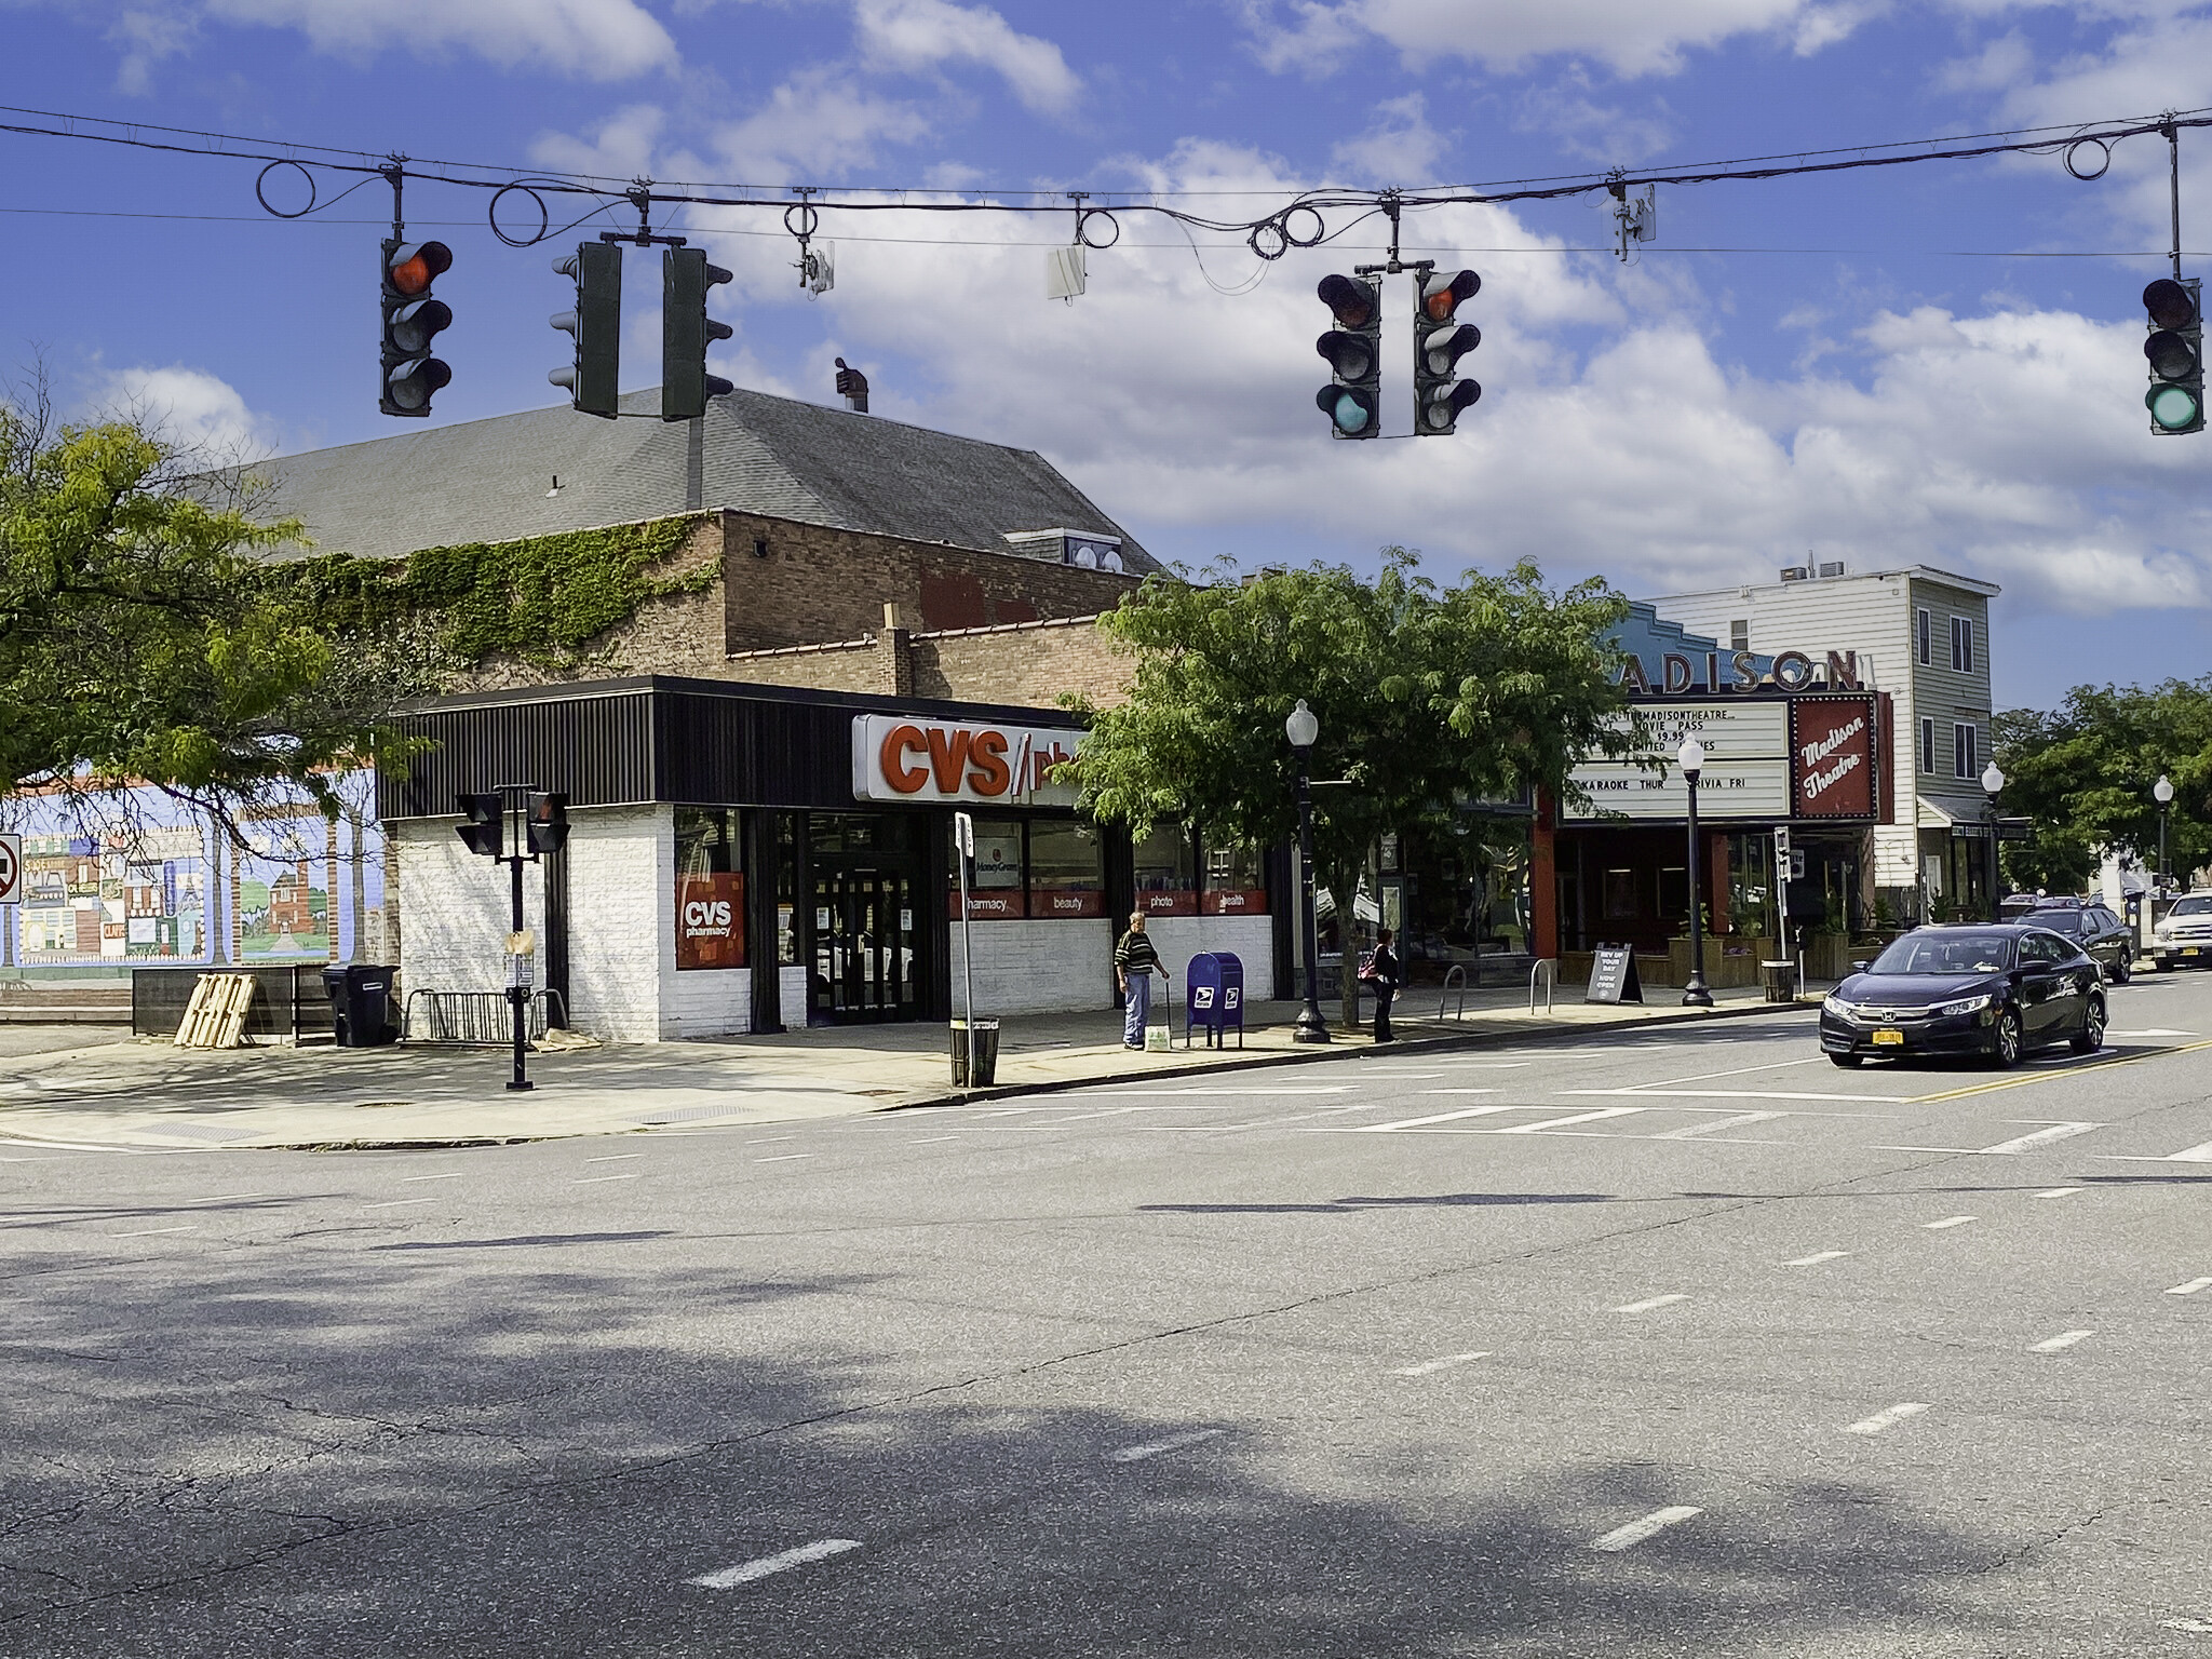
[[[2112,1006],[0,1146],[0,1655],[2212,1655],[2212,978]]]

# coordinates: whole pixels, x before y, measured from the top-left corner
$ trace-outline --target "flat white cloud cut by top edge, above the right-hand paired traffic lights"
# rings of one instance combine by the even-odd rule
[[[1511,73],[1537,58],[1575,55],[1615,75],[1672,75],[1686,51],[1736,35],[1776,35],[1812,53],[1878,9],[1816,0],[1245,0],[1243,15],[1267,69],[1323,71],[1376,38],[1413,69],[1462,58]]]

